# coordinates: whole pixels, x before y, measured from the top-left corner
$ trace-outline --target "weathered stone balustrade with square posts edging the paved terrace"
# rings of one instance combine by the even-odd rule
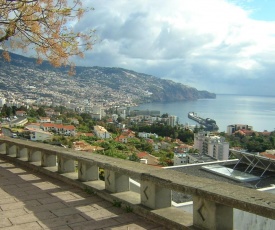
[[[275,219],[275,195],[103,155],[0,139],[0,158],[80,186],[175,229],[233,229],[233,208]],[[105,180],[99,179],[99,169]],[[130,179],[140,183],[131,191]],[[193,214],[171,206],[172,191],[192,195]]]

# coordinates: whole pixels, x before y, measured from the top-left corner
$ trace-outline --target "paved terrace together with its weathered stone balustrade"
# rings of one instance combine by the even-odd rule
[[[172,206],[172,191],[192,195],[193,213]],[[275,195],[102,155],[0,139],[0,228],[233,229],[233,209],[274,220]]]

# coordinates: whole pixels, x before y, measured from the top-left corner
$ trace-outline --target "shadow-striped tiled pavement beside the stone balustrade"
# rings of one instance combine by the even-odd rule
[[[0,229],[166,229],[96,195],[0,160]]]

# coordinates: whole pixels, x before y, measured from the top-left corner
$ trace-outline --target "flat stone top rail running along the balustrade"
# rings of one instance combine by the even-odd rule
[[[96,164],[98,167],[129,176],[139,181],[149,181],[171,191],[182,192],[205,200],[237,208],[263,217],[275,219],[275,195],[221,181],[187,175],[182,172],[152,167],[137,162],[99,154],[73,151],[58,146],[1,138],[0,144],[15,145],[46,154],[62,156],[74,161]]]

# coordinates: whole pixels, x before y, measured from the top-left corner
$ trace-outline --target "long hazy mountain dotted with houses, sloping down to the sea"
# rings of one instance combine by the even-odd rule
[[[57,97],[68,100],[128,100],[132,102],[168,102],[215,98],[214,93],[137,73],[122,68],[75,67],[54,68],[48,62],[10,54],[11,61],[0,57],[0,90],[20,92],[24,97]]]

